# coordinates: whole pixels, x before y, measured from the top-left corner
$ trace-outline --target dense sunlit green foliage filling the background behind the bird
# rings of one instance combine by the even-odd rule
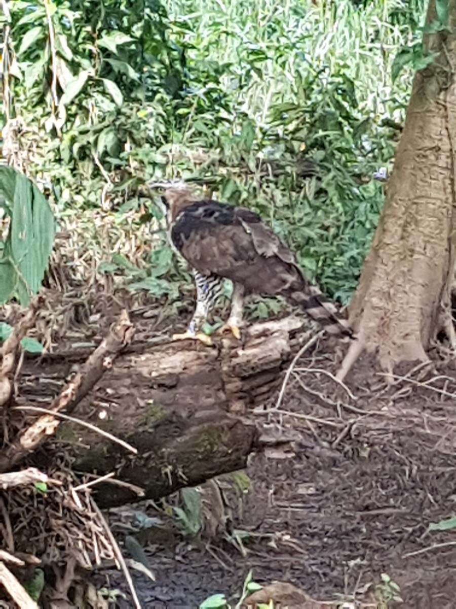
[[[383,200],[371,176],[392,158],[423,61],[423,0],[9,4],[10,113],[35,150],[29,171],[55,185],[63,222],[78,217],[98,272],[178,300],[190,277],[142,186],[180,175],[260,212],[311,279],[349,300]],[[93,217],[106,205],[117,233],[102,242]],[[140,255],[122,242],[128,222]]]

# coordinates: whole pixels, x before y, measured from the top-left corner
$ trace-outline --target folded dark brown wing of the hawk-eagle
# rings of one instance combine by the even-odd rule
[[[290,250],[249,209],[193,203],[176,217],[171,239],[194,269],[226,277],[249,292],[278,294],[303,281]]]

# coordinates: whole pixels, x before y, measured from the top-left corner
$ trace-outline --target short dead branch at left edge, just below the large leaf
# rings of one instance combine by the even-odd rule
[[[37,296],[30,303],[29,311],[13,328],[10,336],[0,348],[0,406],[4,406],[13,394],[13,376],[16,373],[19,355],[21,354],[21,340],[35,325],[36,314],[43,305],[43,297]]]

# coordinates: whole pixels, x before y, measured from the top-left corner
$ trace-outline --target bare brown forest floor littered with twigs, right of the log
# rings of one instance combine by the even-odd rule
[[[314,599],[370,608],[399,606],[386,602],[387,574],[401,607],[456,608],[455,532],[429,529],[456,512],[455,364],[409,366],[388,385],[364,357],[340,387],[334,359],[317,345],[297,362],[280,409],[276,395],[246,414],[266,448],[249,461],[242,501],[224,493],[245,551],[226,536],[192,541],[174,521],[145,546],[156,582],[135,577],[143,607],[194,608],[214,593],[235,604],[252,569],[262,585],[291,582]]]

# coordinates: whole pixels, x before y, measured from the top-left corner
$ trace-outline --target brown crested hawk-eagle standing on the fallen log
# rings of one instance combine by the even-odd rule
[[[231,312],[223,329],[240,338],[244,296],[282,295],[331,334],[351,334],[336,306],[309,283],[294,255],[264,224],[258,214],[243,207],[195,198],[184,185],[156,183],[164,188],[171,242],[187,260],[195,276],[196,309],[185,334],[210,343],[198,330],[218,298],[223,279],[233,282]]]

